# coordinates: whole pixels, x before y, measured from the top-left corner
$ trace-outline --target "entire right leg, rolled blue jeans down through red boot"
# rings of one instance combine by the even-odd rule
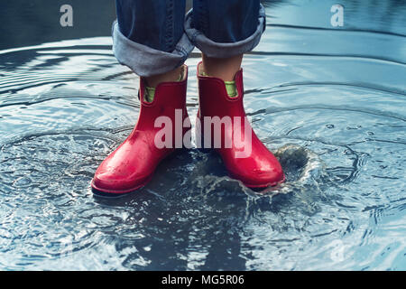
[[[254,134],[243,104],[243,55],[254,49],[264,29],[259,0],[195,0],[185,22],[189,39],[203,53],[198,65],[197,144],[204,140],[204,147],[213,148],[220,138],[214,148],[227,171],[253,188],[284,180],[281,164]],[[219,131],[215,119],[225,124],[217,126]]]

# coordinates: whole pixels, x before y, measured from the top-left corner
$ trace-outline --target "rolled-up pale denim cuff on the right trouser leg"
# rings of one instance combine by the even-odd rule
[[[192,27],[192,13],[193,10],[190,10],[186,15],[185,32],[190,42],[208,57],[227,58],[252,51],[260,42],[266,29],[265,8],[261,5],[258,26],[251,36],[240,42],[213,42],[205,34]]]

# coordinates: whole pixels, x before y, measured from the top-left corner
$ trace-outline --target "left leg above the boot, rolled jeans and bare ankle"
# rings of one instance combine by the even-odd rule
[[[184,34],[185,1],[115,0],[114,51],[119,62],[156,87],[178,79],[193,45]]]

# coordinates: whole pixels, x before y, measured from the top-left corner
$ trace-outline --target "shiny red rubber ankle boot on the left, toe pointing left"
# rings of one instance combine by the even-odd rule
[[[151,180],[161,160],[179,146],[179,144],[175,146],[175,138],[179,132],[183,135],[185,130],[182,127],[175,128],[175,125],[182,126],[183,120],[188,117],[186,111],[188,69],[184,67],[183,80],[159,84],[151,103],[144,100],[144,81],[140,80],[141,108],[138,122],[125,142],[97,168],[91,183],[95,193],[115,196],[143,187]],[[181,119],[175,121],[175,116]],[[155,136],[162,130],[162,123],[155,127],[155,120],[158,117],[171,120],[171,136],[175,136],[172,137],[172,144],[168,145],[171,147],[159,148],[160,145],[155,144]],[[160,137],[162,142],[165,141],[164,137]]]

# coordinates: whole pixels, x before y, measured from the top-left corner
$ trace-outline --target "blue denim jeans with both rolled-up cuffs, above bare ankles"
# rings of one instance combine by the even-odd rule
[[[252,51],[265,30],[260,0],[115,0],[113,51],[141,77],[180,67],[198,47],[208,57]]]

